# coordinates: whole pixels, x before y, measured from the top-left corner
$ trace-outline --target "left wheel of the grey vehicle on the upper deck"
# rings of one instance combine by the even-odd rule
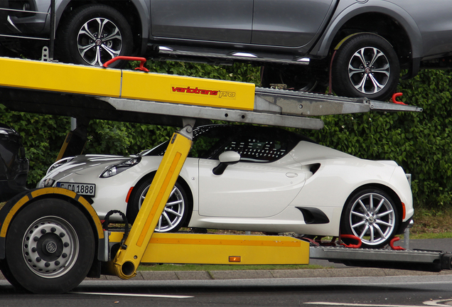
[[[101,25],[102,33],[99,34]],[[102,66],[118,55],[131,55],[131,26],[119,11],[110,6],[81,6],[68,16],[58,30],[55,48],[64,62]],[[121,68],[126,64],[119,60],[109,67]]]

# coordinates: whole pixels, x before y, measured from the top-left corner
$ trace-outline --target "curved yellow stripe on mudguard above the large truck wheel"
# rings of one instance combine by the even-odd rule
[[[51,194],[57,194],[57,195],[65,195],[70,198],[75,199],[78,203],[80,203],[87,212],[90,213],[93,222],[95,222],[97,235],[99,239],[104,238],[104,230],[102,229],[102,224],[100,223],[99,217],[97,216],[97,212],[92,208],[90,203],[85,200],[85,198],[79,197],[77,193],[72,192],[71,190],[66,190],[64,188],[41,188],[37,190],[31,191],[31,193],[28,193],[27,195],[23,196],[20,200],[18,200],[11,210],[9,210],[8,215],[6,215],[6,218],[1,225],[0,230],[0,237],[6,237],[6,232],[8,231],[9,224],[11,223],[11,220],[13,219],[14,215],[16,215],[16,212],[22,208],[23,205],[26,205],[28,201],[33,200],[33,198],[37,198],[42,195],[51,195]]]

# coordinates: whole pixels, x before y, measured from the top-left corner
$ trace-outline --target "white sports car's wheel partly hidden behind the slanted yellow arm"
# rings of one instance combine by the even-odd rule
[[[141,203],[146,196],[149,187],[151,186],[154,176],[146,178],[146,180],[138,183],[129,197],[129,203],[127,203],[127,220],[133,223],[136,219],[136,215],[141,208]],[[190,221],[193,205],[188,200],[187,194],[183,189],[181,183],[176,182],[173,192],[168,198],[166,207],[158,221],[155,231],[156,232],[176,232],[181,227],[188,225]]]

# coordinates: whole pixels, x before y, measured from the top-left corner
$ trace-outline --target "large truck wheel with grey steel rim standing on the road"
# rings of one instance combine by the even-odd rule
[[[65,293],[85,279],[95,257],[95,237],[83,213],[60,199],[23,208],[6,234],[2,271],[11,284],[33,293]]]

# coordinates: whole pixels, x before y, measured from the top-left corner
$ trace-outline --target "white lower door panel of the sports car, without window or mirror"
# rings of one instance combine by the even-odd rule
[[[305,175],[291,168],[240,162],[216,176],[219,161],[200,159],[199,214],[209,217],[270,217],[303,188]]]

